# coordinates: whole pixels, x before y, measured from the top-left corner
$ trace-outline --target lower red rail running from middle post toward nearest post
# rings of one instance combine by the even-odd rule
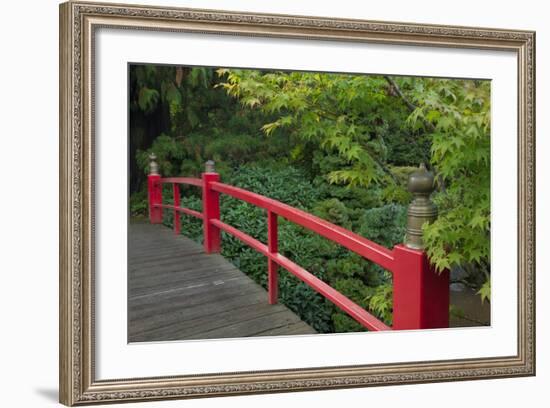
[[[296,276],[307,285],[311,286],[315,291],[326,297],[337,307],[349,314],[353,319],[355,319],[358,323],[368,328],[369,330],[391,330],[391,327],[378,320],[361,306],[354,303],[346,296],[342,295],[336,289],[333,289],[332,287],[327,285],[325,282],[317,278],[312,273],[308,272],[285,256],[279,253],[272,253],[267,245],[258,241],[256,238],[253,238],[250,235],[239,231],[235,227],[225,224],[220,220],[212,220],[212,223],[221,230],[233,235],[235,238],[238,238],[251,248],[254,248],[262,255],[265,255],[270,261],[273,261],[279,266],[285,268],[287,271],[292,273],[294,276]]]

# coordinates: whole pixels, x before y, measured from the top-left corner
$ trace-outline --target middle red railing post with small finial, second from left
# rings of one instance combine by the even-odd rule
[[[214,162],[206,162],[205,172],[202,173],[202,214],[204,251],[209,254],[220,252],[220,229],[212,225],[211,220],[220,219],[220,193],[212,190],[210,183],[220,181],[220,175],[214,170]]]

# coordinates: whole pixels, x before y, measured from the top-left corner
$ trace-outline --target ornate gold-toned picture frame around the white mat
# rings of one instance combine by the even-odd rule
[[[517,53],[518,350],[514,356],[98,381],[94,377],[93,44],[98,27]],[[227,11],[60,6],[60,401],[66,405],[535,374],[535,33]]]

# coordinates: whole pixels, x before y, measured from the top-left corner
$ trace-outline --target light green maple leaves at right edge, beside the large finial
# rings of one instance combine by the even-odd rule
[[[439,218],[424,227],[428,254],[438,270],[477,265],[489,270],[490,83],[403,79],[418,108],[408,121],[432,136],[432,165],[440,192]],[[444,188],[443,188],[444,187]]]

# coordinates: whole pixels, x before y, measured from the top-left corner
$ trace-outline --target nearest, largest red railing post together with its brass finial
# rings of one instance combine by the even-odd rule
[[[394,247],[394,330],[449,327],[449,271],[435,271],[422,241],[422,225],[437,218],[430,200],[433,184],[424,165],[409,177],[414,199],[407,212],[407,235],[404,245]]]

